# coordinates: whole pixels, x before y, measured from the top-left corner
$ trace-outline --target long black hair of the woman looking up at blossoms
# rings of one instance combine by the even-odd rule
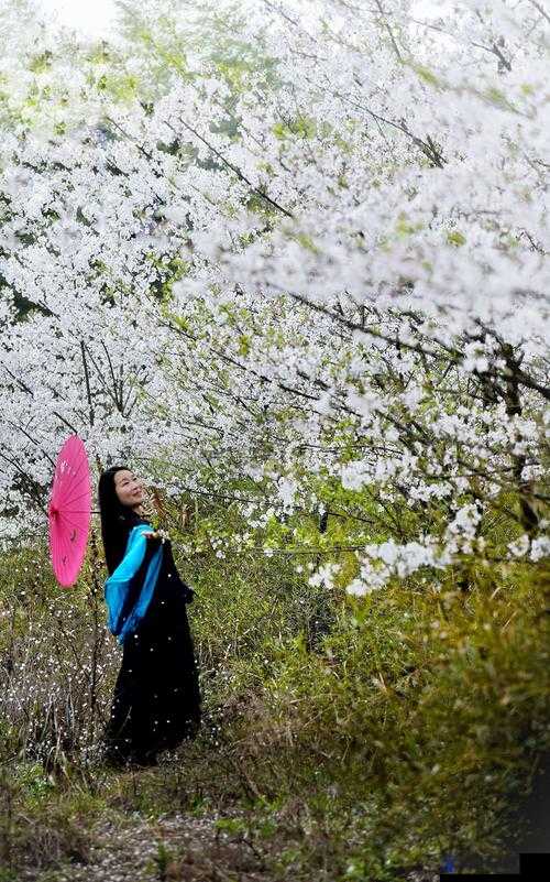
[[[109,575],[117,569],[124,556],[130,530],[136,524],[146,523],[133,509],[123,505],[117,496],[114,476],[122,469],[131,471],[128,466],[111,466],[101,472],[98,484],[101,536]]]

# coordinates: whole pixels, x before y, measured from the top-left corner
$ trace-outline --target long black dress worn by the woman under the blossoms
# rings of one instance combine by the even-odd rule
[[[145,557],[130,586],[129,610],[160,542],[147,538]],[[179,577],[167,540],[145,617],[123,644],[105,732],[107,759],[114,763],[154,762],[157,751],[194,738],[200,726],[201,696],[186,611],[190,600],[193,591]]]

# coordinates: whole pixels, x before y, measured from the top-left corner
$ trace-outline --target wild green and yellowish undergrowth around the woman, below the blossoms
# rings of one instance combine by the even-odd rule
[[[102,562],[92,543],[66,591],[46,552],[0,560],[0,879],[85,862],[95,821],[133,812],[216,813],[273,879],[304,882],[389,882],[512,836],[507,808],[550,750],[543,562],[472,558],[352,598],[282,556],[179,554],[204,726],[158,769],[118,774],[99,752],[120,661]]]

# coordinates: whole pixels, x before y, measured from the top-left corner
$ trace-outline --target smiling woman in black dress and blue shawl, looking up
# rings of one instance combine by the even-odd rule
[[[193,738],[200,692],[182,581],[169,540],[144,516],[144,490],[125,466],[99,479],[101,534],[109,578],[109,627],[123,645],[105,740],[107,761],[155,765],[161,750]]]

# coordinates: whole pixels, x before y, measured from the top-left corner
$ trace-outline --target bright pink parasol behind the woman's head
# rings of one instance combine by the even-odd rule
[[[50,554],[59,585],[75,584],[88,542],[91,514],[90,470],[86,449],[72,435],[57,456],[50,499]]]

